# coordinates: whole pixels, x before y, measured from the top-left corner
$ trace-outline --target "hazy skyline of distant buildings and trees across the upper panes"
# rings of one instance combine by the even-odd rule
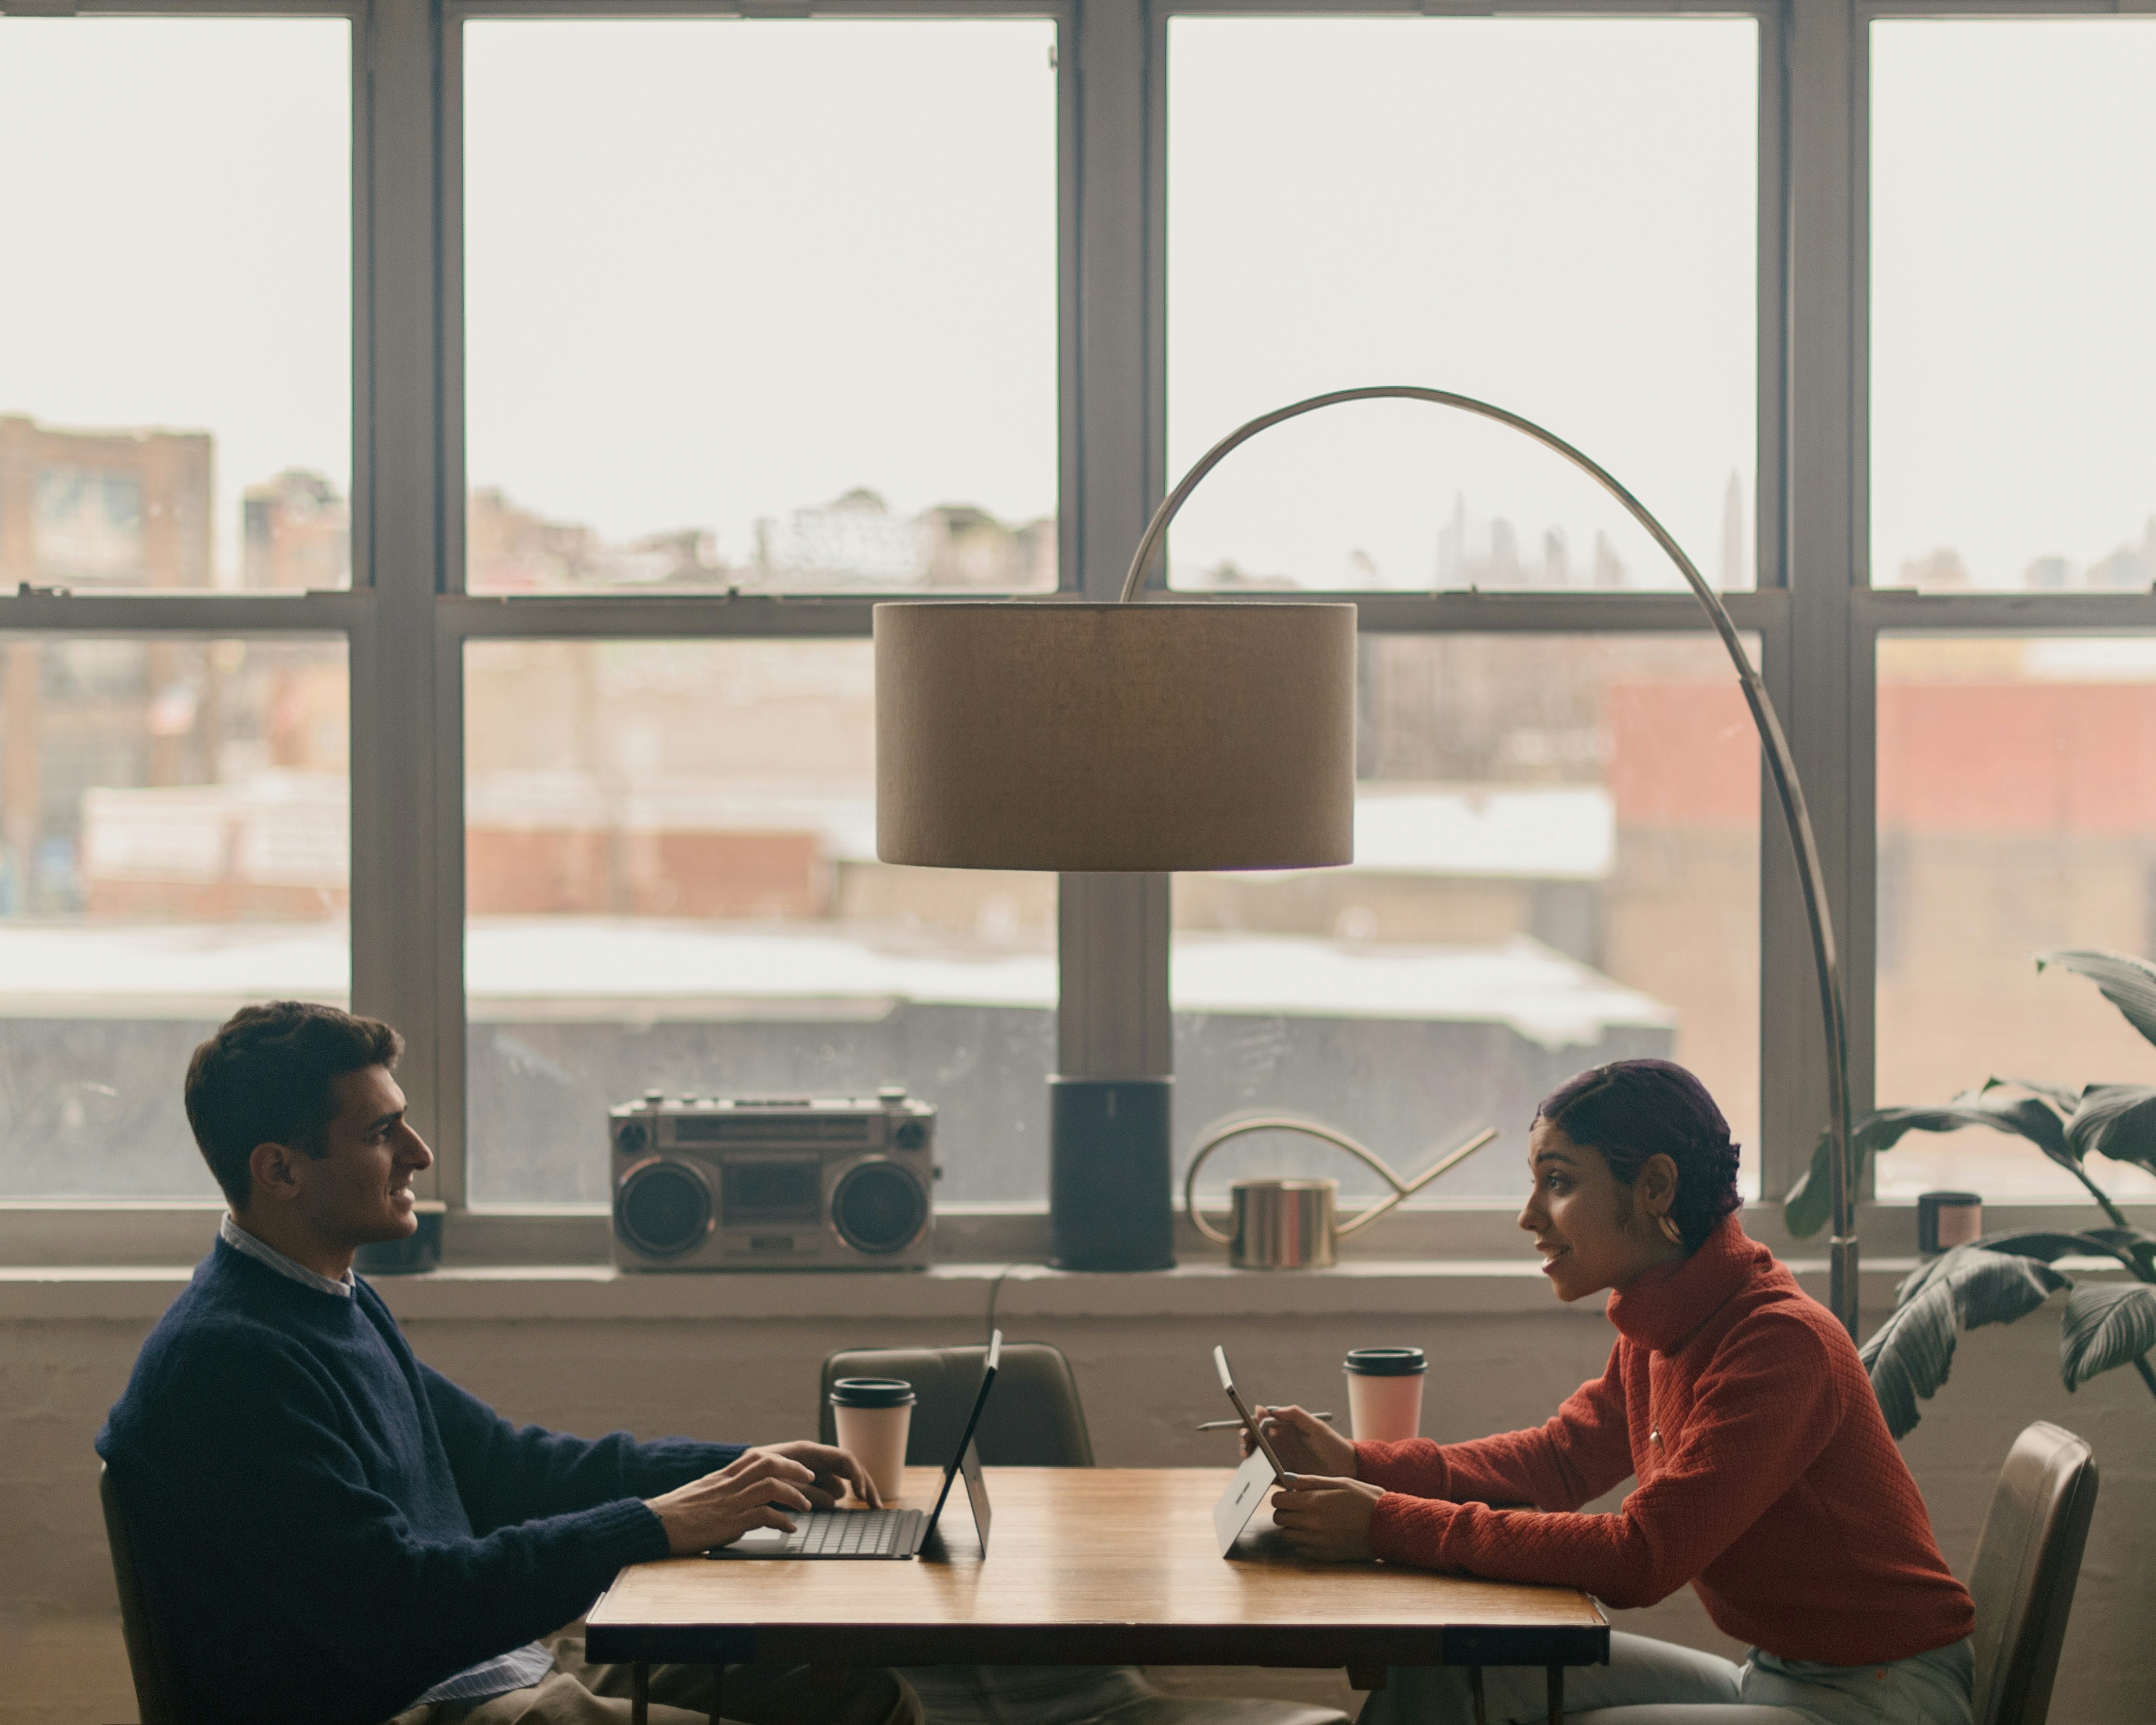
[[[147,524],[164,505],[149,502],[142,464],[155,446],[188,448],[157,466],[164,483],[179,483],[190,502],[177,513],[194,522],[198,546],[185,556],[166,556],[164,567],[149,556]],[[22,414],[0,414],[0,509],[13,489],[28,535],[0,535],[0,574],[34,584],[88,582],[211,584],[211,571],[226,580],[229,565],[216,556],[218,522],[209,509],[209,474],[216,472],[216,438],[209,431],[164,427],[84,429],[56,427]],[[13,472],[13,477],[11,477]],[[198,502],[194,500],[198,496]],[[1056,584],[1056,518],[1000,522],[968,502],[938,502],[912,518],[895,513],[869,485],[804,502],[785,515],[761,515],[750,526],[748,558],[727,561],[718,535],[701,526],[675,526],[632,543],[608,543],[584,522],[550,518],[524,507],[494,485],[476,485],[468,498],[468,580],[472,591],[541,591],[573,586],[690,586],[817,591],[877,586],[970,586],[981,591],[1052,591]],[[185,537],[183,533],[183,537]],[[349,498],[336,483],[308,468],[285,466],[241,485],[237,586],[323,589],[349,584]],[[1343,571],[1343,580],[1298,580],[1281,569],[1244,569],[1231,558],[1192,567],[1173,556],[1177,586],[1261,589],[1345,586],[1360,578],[1367,586],[1460,589],[1626,589],[1632,569],[1602,528],[1576,554],[1561,524],[1514,524],[1505,515],[1468,507],[1464,492],[1429,530],[1432,556],[1423,561],[1427,580],[1386,578],[1367,558]],[[1718,556],[1701,563],[1710,580],[1742,589],[1751,576],[1749,494],[1740,472],[1723,485]],[[1175,543],[1171,541],[1171,554]],[[185,565],[185,571],[181,571]],[[1580,571],[1576,578],[1574,571]],[[1649,576],[1667,561],[1649,548]],[[1412,571],[1410,571],[1412,574]],[[1656,584],[1656,582],[1647,582]],[[1667,584],[1667,576],[1664,576]],[[1925,591],[1968,591],[1979,582],[1953,546],[1904,558],[1893,584]],[[2020,571],[2027,591],[2147,591],[2156,584],[2156,509],[2139,537],[2128,537],[2102,556],[2078,565],[2048,554]]]

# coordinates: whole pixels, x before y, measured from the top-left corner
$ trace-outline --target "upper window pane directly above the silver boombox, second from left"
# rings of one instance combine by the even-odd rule
[[[470,589],[1052,589],[1054,41],[466,24]]]

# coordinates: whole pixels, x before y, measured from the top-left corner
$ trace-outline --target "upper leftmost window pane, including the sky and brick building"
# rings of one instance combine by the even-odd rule
[[[0,19],[0,589],[351,584],[349,60]]]

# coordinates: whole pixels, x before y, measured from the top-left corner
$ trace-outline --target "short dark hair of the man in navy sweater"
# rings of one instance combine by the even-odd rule
[[[188,1061],[188,1126],[233,1210],[254,1195],[254,1145],[330,1154],[336,1080],[397,1065],[403,1037],[379,1018],[354,1018],[313,1000],[241,1007]]]

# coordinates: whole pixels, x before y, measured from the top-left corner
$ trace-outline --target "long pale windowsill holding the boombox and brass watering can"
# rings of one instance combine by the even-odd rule
[[[1826,1298],[1826,1259],[1789,1257],[1805,1287]],[[1915,1257],[1863,1264],[1863,1305],[1884,1311]],[[2072,1270],[2106,1261],[2068,1259]],[[0,1268],[0,1322],[151,1322],[185,1287],[192,1266]],[[927,1270],[625,1274],[604,1264],[464,1266],[420,1276],[369,1276],[403,1322],[729,1322],[783,1324],[901,1317],[996,1322],[1158,1317],[1501,1317],[1576,1313],[1559,1307],[1539,1266],[1505,1259],[1356,1259],[1330,1270],[1231,1270],[1207,1257],[1143,1274],[1072,1274],[1044,1264],[938,1264]]]

